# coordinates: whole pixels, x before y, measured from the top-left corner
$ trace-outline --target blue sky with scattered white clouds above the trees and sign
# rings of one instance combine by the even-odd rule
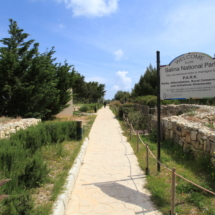
[[[0,38],[8,19],[55,47],[86,81],[106,85],[106,99],[131,91],[156,51],[161,65],[188,52],[215,53],[214,0],[0,0]]]

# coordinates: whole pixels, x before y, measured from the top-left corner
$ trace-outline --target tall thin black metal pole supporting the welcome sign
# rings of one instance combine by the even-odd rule
[[[157,159],[160,161],[160,52],[157,51]],[[157,163],[157,170],[160,172],[160,163]]]

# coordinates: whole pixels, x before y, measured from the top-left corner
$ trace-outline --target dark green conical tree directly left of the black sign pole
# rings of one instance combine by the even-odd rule
[[[157,70],[150,64],[147,67],[144,76],[141,75],[140,80],[132,89],[132,97],[157,95]]]

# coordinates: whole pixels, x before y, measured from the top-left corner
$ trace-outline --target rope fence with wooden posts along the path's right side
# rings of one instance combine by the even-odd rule
[[[214,192],[205,189],[204,187],[201,187],[198,184],[195,184],[194,182],[188,180],[187,178],[184,178],[183,176],[179,175],[176,173],[176,169],[175,168],[168,168],[167,166],[165,166],[163,163],[161,163],[159,160],[157,160],[156,156],[152,153],[152,151],[150,150],[149,146],[147,143],[144,143],[139,135],[138,132],[135,132],[133,125],[131,123],[129,123],[128,118],[125,117],[125,115],[123,115],[123,119],[126,122],[127,127],[130,129],[130,139],[132,137],[132,132],[137,136],[137,151],[139,150],[139,141],[146,147],[146,174],[149,174],[149,154],[151,154],[151,156],[156,160],[157,163],[159,163],[161,166],[163,166],[165,169],[167,169],[168,171],[170,171],[172,173],[172,185],[171,185],[171,215],[175,214],[175,188],[176,188],[176,176],[178,176],[179,178],[189,182],[190,184],[204,190],[205,192],[208,192],[212,195],[215,195]]]

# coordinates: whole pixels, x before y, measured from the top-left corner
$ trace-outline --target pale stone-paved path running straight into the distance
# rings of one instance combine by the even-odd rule
[[[65,215],[160,215],[145,175],[109,107],[102,108]]]

